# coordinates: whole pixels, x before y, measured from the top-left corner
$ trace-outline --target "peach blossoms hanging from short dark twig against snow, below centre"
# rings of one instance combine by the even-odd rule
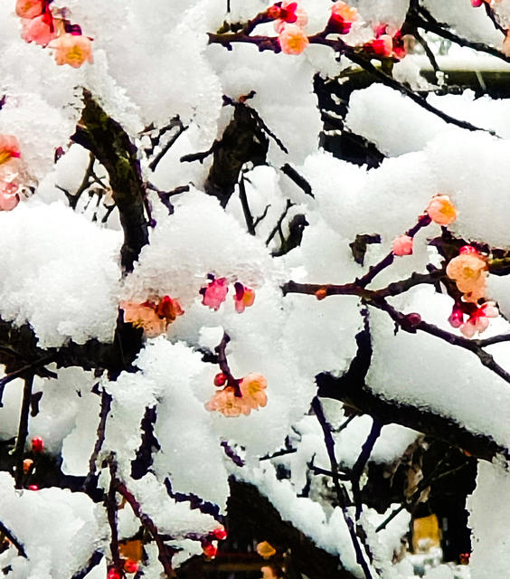
[[[237,380],[221,372],[214,377],[214,385],[224,387],[205,404],[211,412],[220,412],[229,417],[247,416],[252,410],[259,410],[268,403],[265,393],[268,383],[261,374],[250,373]]]

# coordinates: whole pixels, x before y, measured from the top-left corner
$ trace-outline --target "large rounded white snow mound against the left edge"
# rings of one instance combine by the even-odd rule
[[[109,341],[117,321],[120,235],[63,204],[0,213],[0,315],[29,322],[42,347]],[[70,272],[73,275],[70,275]]]

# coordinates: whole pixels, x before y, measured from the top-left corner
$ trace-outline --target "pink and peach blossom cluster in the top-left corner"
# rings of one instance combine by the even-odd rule
[[[27,43],[55,49],[57,64],[79,68],[92,62],[90,38],[78,24],[65,17],[66,10],[52,10],[52,0],[17,0],[16,14],[22,18],[22,37]]]

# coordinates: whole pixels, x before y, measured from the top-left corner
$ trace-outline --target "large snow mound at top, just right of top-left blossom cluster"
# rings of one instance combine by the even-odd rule
[[[101,68],[137,107],[144,125],[163,126],[175,115],[186,124],[195,119],[203,142],[210,145],[222,108],[222,88],[203,55],[209,31],[207,4],[203,0],[176,5],[161,0],[67,3],[73,20],[94,37],[94,51],[107,55]],[[88,74],[92,80],[95,71]]]

